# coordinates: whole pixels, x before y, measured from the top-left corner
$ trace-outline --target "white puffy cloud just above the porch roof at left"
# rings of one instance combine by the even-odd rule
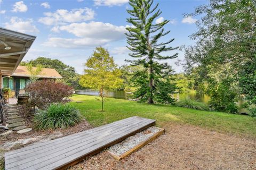
[[[32,19],[22,20],[17,17],[12,17],[10,22],[5,22],[4,25],[7,29],[17,30],[17,31],[23,32],[23,33],[39,32],[39,30],[36,28],[36,26],[33,25]]]

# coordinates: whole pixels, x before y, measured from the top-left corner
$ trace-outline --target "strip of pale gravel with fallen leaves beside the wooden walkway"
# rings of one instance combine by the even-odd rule
[[[126,138],[122,142],[117,143],[109,147],[109,151],[113,152],[116,155],[122,155],[125,152],[129,151],[133,147],[137,146],[140,142],[147,140],[156,132],[159,132],[161,129],[151,126],[148,129],[145,129],[139,133],[132,135],[131,137]]]

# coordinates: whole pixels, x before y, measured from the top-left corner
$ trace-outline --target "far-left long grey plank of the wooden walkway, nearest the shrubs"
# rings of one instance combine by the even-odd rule
[[[111,128],[111,126],[114,126],[114,125],[121,125],[121,123],[126,123],[127,121],[130,121],[130,120],[133,120],[134,119],[134,116],[133,117],[129,117],[129,118],[125,118],[124,120],[120,120],[120,121],[116,121],[116,122],[113,122],[113,123],[110,123],[110,124],[106,124],[106,125],[102,125],[102,126],[99,126],[97,128],[93,128],[93,129],[90,129],[90,130],[86,130],[86,131],[83,131],[83,132],[78,132],[78,133],[75,133],[75,134],[71,134],[71,135],[68,135],[66,137],[62,137],[62,138],[58,138],[58,139],[54,139],[54,140],[51,140],[51,141],[46,141],[46,142],[40,142],[40,143],[35,143],[34,145],[30,145],[28,147],[25,147],[25,148],[21,148],[21,149],[17,149],[17,150],[14,150],[14,151],[10,151],[10,152],[7,152],[5,154],[5,156],[10,156],[10,158],[12,158],[11,155],[18,155],[19,152],[22,152],[21,155],[24,155],[24,154],[28,154],[29,152],[24,152],[24,151],[27,151],[27,150],[31,150],[31,151],[35,151],[33,149],[36,149],[38,148],[38,150],[41,150],[42,148],[46,148],[47,145],[51,145],[51,143],[55,143],[55,144],[59,144],[57,143],[57,141],[68,141],[69,139],[76,139],[76,138],[79,138],[79,137],[83,137],[83,135],[86,133],[95,133],[95,132],[98,132],[99,130],[102,130],[102,129],[107,129],[107,128]],[[122,122],[123,121],[123,122]]]

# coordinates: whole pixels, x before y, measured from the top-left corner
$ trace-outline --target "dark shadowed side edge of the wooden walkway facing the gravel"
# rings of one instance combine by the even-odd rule
[[[138,130],[136,130],[136,131],[134,131],[134,132],[132,132],[132,133],[130,133],[130,134],[125,135],[125,136],[122,137],[122,138],[119,138],[119,139],[117,139],[117,140],[115,140],[115,141],[109,143],[109,144],[106,145],[106,146],[102,146],[101,148],[99,148],[99,149],[97,149],[97,150],[94,150],[93,152],[91,152],[91,153],[89,153],[89,154],[86,154],[86,155],[84,155],[83,157],[78,158],[78,159],[74,160],[73,162],[68,163],[68,164],[66,164],[66,165],[63,165],[62,167],[59,167],[59,168],[56,168],[56,169],[57,169],[57,170],[60,170],[60,169],[67,169],[67,168],[70,167],[70,166],[73,166],[73,165],[75,165],[75,164],[77,164],[77,163],[79,163],[79,162],[82,162],[85,158],[87,158],[87,157],[89,157],[89,156],[92,156],[92,155],[95,155],[95,154],[98,154],[98,152],[102,151],[103,149],[106,149],[106,148],[108,148],[108,147],[110,147],[110,146],[112,146],[112,145],[115,145],[116,143],[118,143],[118,142],[124,140],[125,138],[130,137],[131,135],[134,135],[135,133],[138,133],[138,132],[140,132],[140,131],[143,131],[143,130],[145,130],[145,129],[147,129],[147,128],[149,128],[150,126],[153,126],[153,125],[155,125],[155,124],[156,124],[156,120],[154,120],[154,122],[152,122],[152,123],[150,123],[150,124],[148,124],[148,125],[146,125],[146,126],[143,126],[142,128],[140,128],[140,129],[138,129]]]

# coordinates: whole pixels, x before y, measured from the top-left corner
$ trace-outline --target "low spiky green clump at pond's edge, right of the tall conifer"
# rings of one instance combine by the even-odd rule
[[[181,99],[176,103],[176,105],[179,107],[192,108],[200,111],[209,110],[209,107],[207,107],[205,103],[190,99],[189,97]]]

